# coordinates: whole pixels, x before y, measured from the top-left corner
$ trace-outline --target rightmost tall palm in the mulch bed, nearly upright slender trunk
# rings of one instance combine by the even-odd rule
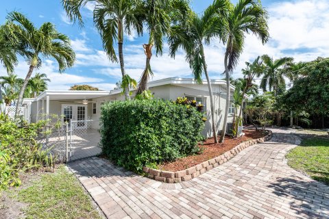
[[[267,26],[267,11],[262,7],[260,1],[239,0],[235,6],[232,5],[226,19],[226,52],[224,57],[224,66],[226,73],[226,109],[224,116],[223,129],[221,129],[220,142],[224,142],[226,133],[226,123],[228,122],[228,109],[230,107],[230,74],[239,57],[243,52],[245,34],[255,34],[263,44],[269,38]]]

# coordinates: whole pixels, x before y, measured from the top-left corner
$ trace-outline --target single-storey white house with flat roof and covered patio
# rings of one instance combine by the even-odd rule
[[[210,99],[206,81],[202,84],[193,79],[167,78],[149,82],[149,90],[154,98],[175,100],[178,96],[194,99],[204,105],[204,112],[208,118],[204,129],[204,136],[211,136]],[[217,129],[223,127],[223,116],[226,106],[226,81],[211,80],[215,101],[215,120]],[[234,86],[231,93],[234,92]],[[32,123],[45,114],[63,115],[63,122],[69,120],[93,120],[92,128],[99,129],[100,107],[108,101],[124,100],[121,90],[108,91],[82,91],[82,90],[46,90],[29,103],[27,119]],[[232,97],[231,97],[232,99]],[[234,107],[230,105],[228,123],[232,123]],[[82,123],[84,125],[85,123]],[[86,127],[80,127],[86,128]]]

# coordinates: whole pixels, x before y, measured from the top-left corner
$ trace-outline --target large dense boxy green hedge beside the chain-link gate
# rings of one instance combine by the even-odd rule
[[[101,107],[101,150],[112,162],[141,171],[199,152],[203,114],[162,100],[114,101]]]

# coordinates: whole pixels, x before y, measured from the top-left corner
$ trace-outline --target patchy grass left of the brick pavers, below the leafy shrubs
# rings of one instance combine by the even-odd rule
[[[42,175],[14,198],[28,206],[27,218],[101,218],[77,179],[64,166]]]

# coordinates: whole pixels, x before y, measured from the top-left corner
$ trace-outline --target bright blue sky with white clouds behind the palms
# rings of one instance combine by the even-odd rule
[[[212,1],[193,0],[191,7],[196,12],[202,12]],[[236,2],[236,1],[233,1]],[[239,66],[233,77],[241,76],[241,68],[245,62],[252,61],[257,55],[268,54],[274,58],[292,56],[295,61],[314,60],[318,56],[325,57],[329,51],[329,1],[262,1],[269,12],[269,32],[271,39],[264,46],[254,36],[247,36],[245,50],[241,55]],[[103,53],[99,34],[93,27],[93,5],[88,5],[83,11],[85,25],[83,28],[69,23],[60,1],[45,0],[11,0],[3,1],[0,9],[0,22],[5,22],[8,12],[17,10],[25,14],[39,27],[44,22],[52,22],[58,31],[69,36],[77,54],[73,68],[62,75],[58,73],[56,62],[44,59],[44,64],[36,72],[47,73],[51,79],[49,89],[67,90],[73,84],[88,83],[102,90],[111,90],[121,78],[119,64],[111,63]],[[124,54],[125,66],[129,75],[139,79],[145,64],[142,44],[147,42],[147,34],[138,37],[136,34],[125,36]],[[206,47],[206,60],[210,77],[221,79],[223,75],[223,50],[218,42]],[[169,57],[167,46],[162,57],[152,57],[151,66],[154,70],[153,79],[165,77],[191,77],[191,70],[184,60],[184,54],[179,53],[175,60]],[[19,62],[15,73],[25,77],[27,63]],[[5,71],[0,68],[0,75]]]

